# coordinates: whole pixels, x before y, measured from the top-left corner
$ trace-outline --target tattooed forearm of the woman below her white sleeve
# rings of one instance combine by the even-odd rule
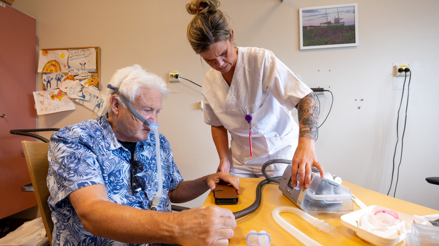
[[[297,103],[299,116],[299,137],[316,139],[319,121],[319,106],[313,93],[309,93]]]

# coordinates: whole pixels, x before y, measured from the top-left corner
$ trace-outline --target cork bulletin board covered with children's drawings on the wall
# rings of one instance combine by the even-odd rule
[[[37,114],[75,110],[80,104],[103,115],[100,57],[100,47],[40,50],[37,72],[42,74],[43,90],[33,92]]]

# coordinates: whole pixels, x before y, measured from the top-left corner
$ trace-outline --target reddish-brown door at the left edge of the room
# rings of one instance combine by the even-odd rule
[[[11,129],[36,128],[36,19],[0,2],[0,218],[36,206],[22,140]]]

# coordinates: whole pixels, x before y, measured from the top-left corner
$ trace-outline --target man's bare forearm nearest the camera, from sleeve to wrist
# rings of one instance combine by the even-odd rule
[[[173,219],[173,213],[113,203],[106,192],[104,185],[90,185],[68,196],[87,232],[126,243],[176,241],[175,223],[178,222]]]

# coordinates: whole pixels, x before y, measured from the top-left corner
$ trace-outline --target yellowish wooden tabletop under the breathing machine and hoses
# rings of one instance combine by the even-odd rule
[[[239,200],[236,205],[215,205],[213,193],[211,192],[203,206],[215,205],[225,207],[232,212],[245,209],[254,202],[256,196],[255,189],[261,180],[263,180],[263,178],[240,178],[241,194],[238,196]],[[408,215],[439,214],[438,210],[386,196],[349,182],[343,181],[342,185],[349,188],[352,194],[365,203],[366,206],[379,205]],[[273,209],[279,206],[296,207],[286,196],[282,195],[282,192],[277,187],[278,185],[274,183],[268,183],[262,187],[261,205],[252,214],[237,219],[237,227],[234,230],[233,238],[230,239],[230,246],[247,245],[245,238],[250,230],[255,230],[256,232],[264,230],[270,234],[270,246],[303,245],[302,242],[277,224],[271,215]],[[354,211],[359,210],[360,207],[354,203],[353,209]],[[318,228],[295,214],[283,213],[281,216],[295,228],[298,228],[311,239],[316,240],[322,245],[371,245],[369,242],[356,236],[352,229],[342,225],[340,214],[318,214],[316,216],[320,220],[324,220],[337,228],[338,234],[334,238],[321,232]],[[402,242],[397,245],[401,244]]]

